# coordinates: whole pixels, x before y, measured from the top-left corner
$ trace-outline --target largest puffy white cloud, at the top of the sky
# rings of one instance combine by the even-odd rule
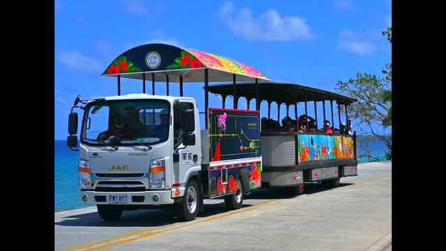
[[[237,36],[254,41],[310,40],[315,37],[303,17],[281,17],[277,10],[269,9],[259,18],[252,17],[249,8],[242,8],[235,14],[235,7],[228,1],[220,8],[220,17]]]

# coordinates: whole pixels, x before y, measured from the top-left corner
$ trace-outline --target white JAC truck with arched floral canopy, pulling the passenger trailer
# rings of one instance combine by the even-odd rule
[[[260,188],[259,112],[208,109],[209,79],[268,80],[259,71],[224,56],[148,44],[118,56],[103,75],[117,77],[118,96],[77,96],[67,138],[79,151],[79,201],[96,204],[103,220],[139,208],[176,208],[179,218],[193,220],[203,198],[224,197],[228,208],[238,209]],[[121,78],[142,79],[144,93],[121,96]],[[169,79],[180,83],[180,96],[155,95],[155,81],[164,80],[169,95]],[[194,98],[183,97],[183,82],[199,79],[203,112]],[[145,93],[146,80],[152,94]],[[84,110],[78,149],[75,108]]]

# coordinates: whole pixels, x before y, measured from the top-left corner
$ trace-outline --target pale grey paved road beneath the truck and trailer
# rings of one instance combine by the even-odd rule
[[[104,222],[95,209],[55,214],[56,250],[391,250],[392,162],[358,165],[339,188],[307,184],[305,195],[254,190],[227,211],[206,199],[205,212],[178,222],[173,211],[125,211]]]

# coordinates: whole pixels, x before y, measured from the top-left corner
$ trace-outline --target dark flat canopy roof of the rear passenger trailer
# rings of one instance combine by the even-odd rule
[[[233,96],[233,83],[213,84],[209,86],[210,93],[222,96]],[[344,96],[331,91],[324,91],[309,86],[284,82],[259,82],[259,99],[268,102],[293,105],[295,102],[336,100],[339,104],[350,105],[356,98]],[[254,82],[237,83],[237,97],[256,98],[256,84]]]

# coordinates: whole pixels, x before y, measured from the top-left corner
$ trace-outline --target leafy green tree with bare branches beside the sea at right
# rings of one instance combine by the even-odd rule
[[[392,27],[383,31],[383,35],[387,35],[387,40],[392,43]],[[379,139],[387,147],[385,158],[392,159],[392,135],[386,133],[386,129],[392,126],[392,63],[385,64],[383,74],[384,77],[378,77],[369,73],[357,73],[355,79],[337,82],[337,89],[358,99],[348,108],[352,118],[359,121],[356,125],[359,128],[357,132],[363,136],[358,144],[363,153],[358,154],[358,158],[378,160],[372,155],[369,146]]]

